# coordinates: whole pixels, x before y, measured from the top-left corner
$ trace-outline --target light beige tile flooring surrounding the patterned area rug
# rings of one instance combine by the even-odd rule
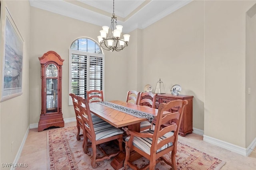
[[[76,122],[65,123],[65,127],[75,126]],[[48,130],[41,132],[37,128],[30,129],[25,145],[18,163],[28,163],[27,168],[16,168],[16,170],[46,170],[47,169],[47,150],[46,150],[46,133]],[[179,136],[178,140],[184,144],[194,147],[202,152],[214,156],[226,162],[221,170],[255,170],[256,169],[256,148],[250,156],[242,156],[229,150],[217,147],[203,141],[203,137],[194,133]]]

